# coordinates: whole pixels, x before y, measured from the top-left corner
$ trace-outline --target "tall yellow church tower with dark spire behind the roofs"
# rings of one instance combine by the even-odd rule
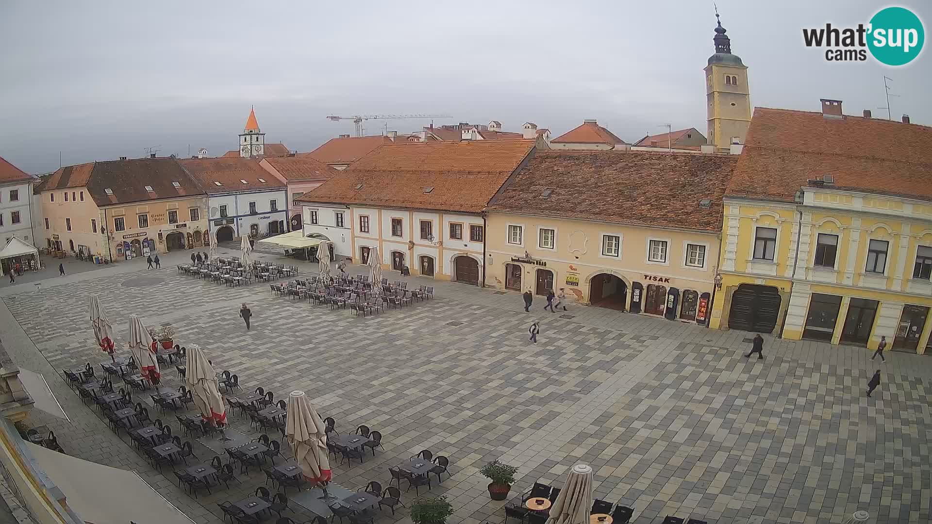
[[[715,14],[719,19],[719,13]],[[716,151],[727,152],[732,144],[744,145],[751,123],[751,95],[747,66],[732,54],[732,43],[725,28],[715,28],[715,54],[706,65],[706,137]]]

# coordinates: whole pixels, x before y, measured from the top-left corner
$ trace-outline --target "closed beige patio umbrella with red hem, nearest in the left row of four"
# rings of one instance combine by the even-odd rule
[[[285,434],[304,477],[311,482],[328,482],[331,478],[327,457],[327,434],[321,416],[308,395],[294,391],[288,395],[288,419]]]

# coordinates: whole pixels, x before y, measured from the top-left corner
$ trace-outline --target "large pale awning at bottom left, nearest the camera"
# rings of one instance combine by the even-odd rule
[[[85,522],[194,522],[135,472],[84,461],[30,443],[26,445],[38,466],[62,490],[68,507]]]

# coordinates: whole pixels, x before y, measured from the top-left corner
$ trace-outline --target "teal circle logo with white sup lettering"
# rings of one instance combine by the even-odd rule
[[[886,7],[870,19],[868,48],[881,63],[905,65],[923,50],[923,22],[904,7]]]

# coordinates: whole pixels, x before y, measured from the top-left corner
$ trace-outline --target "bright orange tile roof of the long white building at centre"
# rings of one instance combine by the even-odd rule
[[[298,200],[481,213],[534,144],[479,140],[382,145]]]

